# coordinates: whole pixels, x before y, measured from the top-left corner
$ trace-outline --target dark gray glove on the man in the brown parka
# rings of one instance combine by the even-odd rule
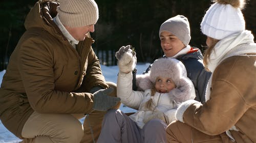
[[[93,109],[99,111],[106,111],[112,106],[115,106],[120,98],[108,96],[109,93],[113,91],[112,88],[99,90],[93,94]]]

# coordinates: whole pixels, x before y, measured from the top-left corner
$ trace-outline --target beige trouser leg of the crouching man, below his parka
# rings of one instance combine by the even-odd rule
[[[83,136],[83,127],[78,118],[82,115],[41,114],[33,112],[25,123],[22,142],[79,143]]]

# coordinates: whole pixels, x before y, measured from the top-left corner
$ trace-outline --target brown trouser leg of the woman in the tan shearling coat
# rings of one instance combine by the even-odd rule
[[[225,133],[222,133],[220,135],[208,135],[180,121],[172,122],[167,126],[166,138],[167,138],[167,142],[172,142],[172,143],[232,142]]]

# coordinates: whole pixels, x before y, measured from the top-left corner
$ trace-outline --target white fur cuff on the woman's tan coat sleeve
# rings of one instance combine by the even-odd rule
[[[180,122],[183,122],[183,123],[184,123],[184,121],[183,121],[183,114],[184,114],[184,112],[186,111],[186,109],[187,109],[190,105],[192,105],[192,104],[194,104],[194,103],[200,103],[200,102],[191,99],[191,100],[187,100],[187,101],[181,103],[180,106],[178,107],[177,111],[176,111],[175,118],[176,118],[177,120],[179,120]],[[200,103],[200,104],[201,104],[201,103]]]

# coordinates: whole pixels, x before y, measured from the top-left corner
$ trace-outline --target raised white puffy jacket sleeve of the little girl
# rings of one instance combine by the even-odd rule
[[[140,103],[143,101],[144,92],[132,90],[133,74],[130,73],[118,73],[117,78],[117,97],[121,99],[121,102],[134,109],[138,109]]]

